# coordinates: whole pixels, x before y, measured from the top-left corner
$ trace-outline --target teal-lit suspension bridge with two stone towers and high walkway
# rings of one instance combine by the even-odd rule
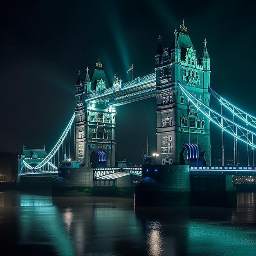
[[[143,166],[136,172],[134,167],[115,166],[115,120],[118,106],[150,97],[157,100],[156,168],[186,166],[191,175],[255,175],[256,117],[215,92],[210,73],[206,39],[198,55],[184,22],[179,31],[175,29],[170,47],[162,47],[159,37],[155,71],[146,76],[122,83],[115,74],[109,84],[99,59],[91,76],[88,67],[84,79],[78,72],[76,108],[54,148],[41,159],[33,151],[30,157],[21,154],[18,176],[54,174],[77,184],[84,179],[86,186],[97,180],[145,177]],[[216,102],[215,109],[210,98]],[[221,166],[211,164],[211,127],[220,129]],[[224,166],[225,134],[234,140],[234,166]],[[247,145],[247,166],[238,166],[238,143]],[[81,173],[91,176],[80,179]]]

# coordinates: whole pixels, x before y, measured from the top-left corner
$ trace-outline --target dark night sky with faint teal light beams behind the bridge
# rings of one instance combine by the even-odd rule
[[[0,11],[0,151],[24,143],[49,152],[74,111],[78,70],[101,58],[110,83],[114,73],[129,80],[132,63],[134,77],[146,75],[159,34],[170,46],[182,18],[198,54],[207,38],[211,87],[256,115],[254,8],[245,2],[3,0]],[[118,107],[118,159],[140,161],[147,135],[153,153],[155,110],[155,99]]]

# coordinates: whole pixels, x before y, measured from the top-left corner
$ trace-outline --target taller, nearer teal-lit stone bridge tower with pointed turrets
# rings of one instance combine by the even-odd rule
[[[157,153],[161,164],[210,164],[209,120],[190,104],[180,83],[209,106],[210,58],[206,40],[198,58],[187,27],[175,29],[171,47],[159,45],[155,55]]]

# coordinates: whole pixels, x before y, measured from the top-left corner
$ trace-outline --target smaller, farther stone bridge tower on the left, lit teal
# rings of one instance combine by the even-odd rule
[[[85,102],[88,94],[108,88],[108,80],[100,60],[91,78],[88,71],[76,81],[75,160],[82,167],[115,166],[115,106]]]

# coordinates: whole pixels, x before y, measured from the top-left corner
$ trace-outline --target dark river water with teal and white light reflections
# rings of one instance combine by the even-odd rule
[[[256,193],[237,208],[0,192],[0,255],[256,255]]]

